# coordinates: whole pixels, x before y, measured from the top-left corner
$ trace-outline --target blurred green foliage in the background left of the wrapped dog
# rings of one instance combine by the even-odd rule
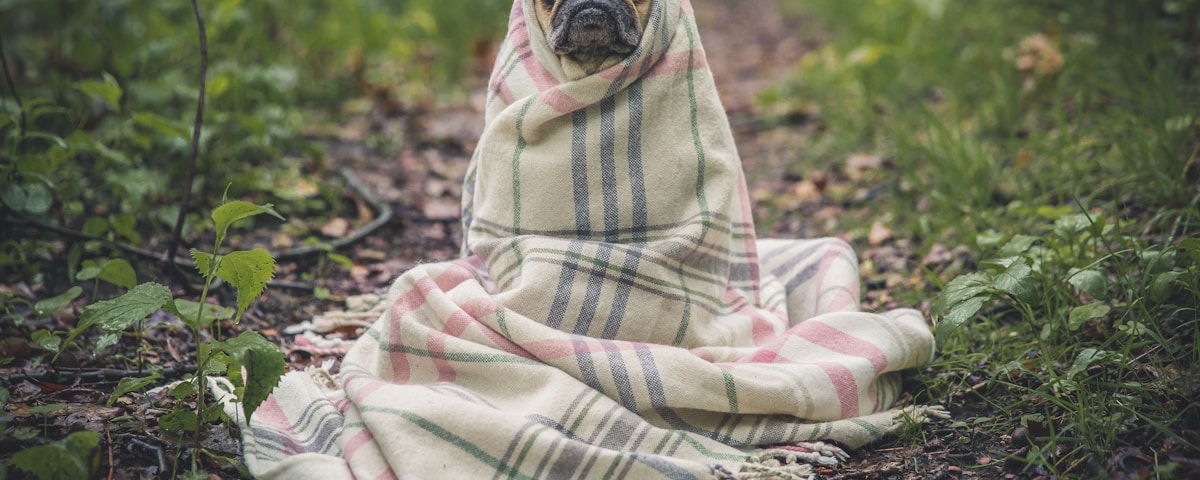
[[[200,1],[209,68],[193,204],[212,206],[228,186],[230,198],[287,200],[289,216],[336,210],[329,185],[295,185],[325,168],[305,132],[356,98],[461,97],[460,78],[490,54],[510,7]],[[0,40],[12,82],[0,89],[5,215],[134,245],[164,236],[178,215],[199,88],[192,4],[0,0]],[[37,270],[25,260],[38,245],[5,241],[0,265]]]

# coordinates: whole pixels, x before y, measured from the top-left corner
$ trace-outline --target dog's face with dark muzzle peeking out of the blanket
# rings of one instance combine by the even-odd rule
[[[587,73],[629,56],[642,41],[654,0],[534,0],[550,47]]]

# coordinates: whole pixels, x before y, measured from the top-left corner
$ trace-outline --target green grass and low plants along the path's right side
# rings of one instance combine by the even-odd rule
[[[1008,458],[1028,472],[1104,476],[1122,446],[1169,472],[1166,451],[1194,451],[1200,1],[788,8],[828,25],[760,97],[820,124],[796,168],[887,158],[877,217],[977,263],[929,272],[941,356],[918,400],[986,402],[988,428],[1031,432]]]

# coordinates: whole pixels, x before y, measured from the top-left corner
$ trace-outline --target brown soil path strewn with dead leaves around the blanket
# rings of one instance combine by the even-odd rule
[[[781,16],[778,4],[785,0],[701,1],[696,2],[697,22],[704,38],[709,62],[718,89],[728,110],[731,124],[743,156],[750,188],[756,198],[790,199],[793,209],[775,215],[769,224],[760,224],[763,236],[840,235],[862,246],[866,308],[886,308],[895,304],[886,288],[898,281],[898,271],[919,270],[922,262],[962,263],[961,252],[942,246],[918,248],[907,239],[893,239],[882,228],[868,235],[836,230],[832,221],[847,210],[853,215],[872,215],[829,191],[869,192],[875,180],[886,175],[856,175],[851,169],[886,169],[871,158],[842,164],[810,166],[810,174],[797,175],[790,167],[796,151],[803,149],[805,134],[814,127],[803,115],[790,121],[766,125],[755,104],[755,95],[786,79],[806,52],[820,42],[818,35],[804,18]],[[486,48],[484,49],[487,50]],[[486,55],[485,55],[486,56]],[[305,256],[280,263],[276,282],[256,301],[239,325],[229,331],[256,330],[280,344],[288,354],[289,367],[302,368],[312,362],[337,359],[319,349],[300,348],[289,325],[311,319],[314,314],[344,308],[347,296],[378,293],[389,282],[422,262],[438,262],[458,254],[461,228],[458,197],[461,181],[470,152],[482,125],[482,92],[490,60],[481,60],[469,83],[475,94],[452,106],[373,108],[343,119],[330,133],[322,136],[326,148],[330,172],[347,168],[362,179],[366,196],[349,194],[344,199],[343,220],[323,226],[330,239],[353,234],[379,212],[370,208],[365,197],[377,197],[390,206],[394,216],[378,230],[338,252],[349,257],[349,269],[323,264],[319,256]],[[382,140],[380,140],[382,139]],[[857,164],[857,167],[854,167]],[[805,178],[806,176],[806,178]],[[864,180],[868,179],[868,180]],[[331,181],[336,181],[336,176]],[[852,196],[851,196],[852,197]],[[786,203],[785,203],[786,204]],[[44,235],[28,227],[20,235]],[[232,239],[244,244],[287,246],[290,241],[271,234],[259,238]],[[64,240],[64,251],[67,240]],[[918,254],[918,250],[931,252]],[[940,253],[935,257],[932,253]],[[54,254],[49,252],[47,254]],[[156,266],[157,265],[157,266]],[[142,262],[142,270],[156,270],[158,278],[173,274],[155,262]],[[890,274],[888,274],[890,272]],[[48,272],[55,275],[60,272]],[[308,274],[317,274],[316,281]],[[19,280],[5,280],[6,292],[23,298],[38,298]],[[313,287],[328,289],[318,298]],[[224,300],[230,289],[218,292]],[[83,298],[89,298],[88,289]],[[108,294],[102,290],[100,295]],[[182,294],[184,289],[175,292]],[[44,296],[44,295],[43,295]],[[226,304],[228,305],[228,302]],[[920,305],[912,305],[920,306]],[[179,472],[187,463],[180,460],[179,438],[156,427],[156,421],[170,402],[162,395],[130,394],[112,407],[106,406],[109,394],[121,376],[137,374],[130,360],[137,356],[133,342],[122,342],[124,356],[92,358],[71,354],[59,359],[58,368],[46,366],[46,359],[29,342],[29,332],[52,328],[68,330],[77,322],[78,308],[48,319],[34,319],[25,312],[22,325],[0,324],[4,343],[0,358],[16,361],[0,367],[0,382],[11,392],[2,419],[10,427],[41,428],[40,438],[58,439],[78,430],[103,432],[101,436],[101,475],[113,479],[164,478]],[[168,323],[151,329],[143,342],[151,348],[143,355],[146,362],[167,370],[167,379],[178,379],[187,371],[194,338],[187,329],[170,324],[168,318],[151,318],[151,324]],[[353,332],[347,332],[353,337]],[[930,372],[937,374],[936,372]],[[961,379],[978,384],[984,378]],[[40,404],[64,403],[66,408],[35,415],[30,408]],[[973,394],[959,392],[947,402],[954,420],[918,428],[904,439],[854,451],[850,461],[836,467],[817,468],[822,479],[937,479],[937,478],[1038,478],[1038,472],[1020,472],[1019,463],[1004,461],[1006,454],[1019,455],[1021,432],[994,432],[986,428],[953,424],[989,415],[990,407]],[[205,446],[228,457],[240,456],[236,432],[214,426]],[[0,451],[12,452],[32,444],[12,436],[0,438]],[[7,454],[6,454],[7,455]],[[1129,460],[1136,467],[1136,458]],[[1133,469],[1132,470],[1135,470]],[[204,468],[214,478],[238,478],[236,470],[221,462]],[[10,475],[14,473],[10,472]]]

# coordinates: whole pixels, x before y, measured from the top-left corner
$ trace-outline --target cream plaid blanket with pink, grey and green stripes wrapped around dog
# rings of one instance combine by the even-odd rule
[[[905,419],[912,310],[858,311],[836,239],[757,240],[688,0],[570,78],[517,0],[463,198],[463,257],[406,272],[335,377],[244,428],[260,478],[805,478]]]

